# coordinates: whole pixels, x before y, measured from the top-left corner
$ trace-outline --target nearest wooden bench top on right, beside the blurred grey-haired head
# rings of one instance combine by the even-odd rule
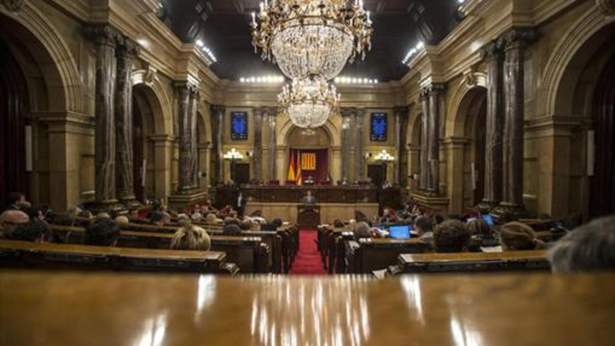
[[[499,253],[402,254],[399,255],[399,267],[404,273],[550,269],[545,250]]]

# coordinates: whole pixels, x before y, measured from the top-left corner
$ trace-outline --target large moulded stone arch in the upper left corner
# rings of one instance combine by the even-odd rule
[[[0,6],[0,17],[18,24],[18,28],[27,31],[26,37],[21,37],[26,49],[37,60],[44,76],[49,99],[49,111],[84,112],[84,102],[81,84],[81,74],[77,68],[68,45],[58,33],[52,22],[30,1],[12,12]],[[27,36],[33,37],[28,39]]]

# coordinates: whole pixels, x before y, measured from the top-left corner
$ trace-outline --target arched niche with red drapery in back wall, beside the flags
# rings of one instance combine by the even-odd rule
[[[331,139],[323,127],[301,129],[293,127],[288,134],[288,162],[293,158],[299,164],[300,157],[311,158],[313,162],[304,164],[303,181],[312,177],[314,182],[322,182],[329,174],[331,177]],[[340,163],[341,164],[341,163]]]

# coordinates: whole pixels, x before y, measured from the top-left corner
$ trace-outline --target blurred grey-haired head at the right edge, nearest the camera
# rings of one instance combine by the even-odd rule
[[[547,257],[560,274],[615,270],[615,216],[603,217],[563,236]]]

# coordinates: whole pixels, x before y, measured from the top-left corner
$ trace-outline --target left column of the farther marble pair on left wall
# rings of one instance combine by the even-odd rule
[[[180,193],[188,193],[197,185],[196,167],[196,102],[197,96],[194,87],[186,82],[176,83],[175,87],[179,99],[179,135],[180,135],[180,163],[179,163],[179,182],[177,190]]]

